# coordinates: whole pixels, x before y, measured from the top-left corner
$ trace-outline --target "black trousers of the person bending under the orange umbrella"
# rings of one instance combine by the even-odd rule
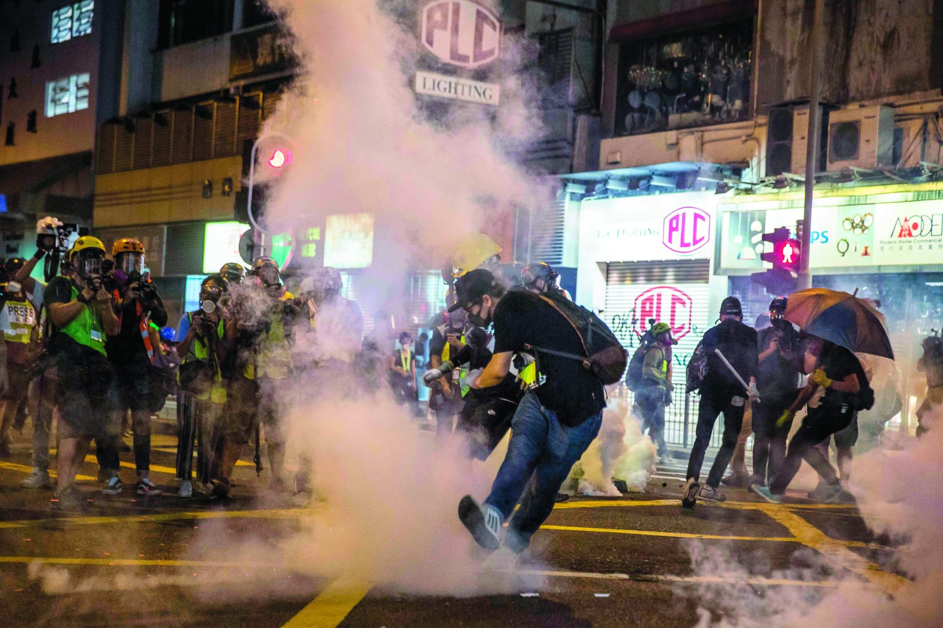
[[[837,484],[838,475],[835,474],[835,468],[816,445],[848,427],[853,418],[854,412],[847,406],[823,403],[819,408],[810,408],[809,413],[802,419],[802,427],[789,442],[783,468],[769,482],[769,491],[776,495],[786,492],[789,482],[799,473],[802,460],[808,462],[827,483]]]

